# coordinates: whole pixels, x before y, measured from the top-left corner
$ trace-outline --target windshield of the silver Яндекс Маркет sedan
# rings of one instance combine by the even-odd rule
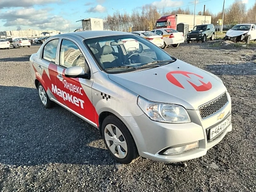
[[[145,70],[175,62],[159,47],[134,34],[85,39],[98,66],[106,73]]]

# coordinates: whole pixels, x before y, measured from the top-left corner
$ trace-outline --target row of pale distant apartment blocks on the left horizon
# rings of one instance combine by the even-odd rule
[[[20,30],[20,31],[0,31],[0,36],[11,38],[36,38],[41,36],[52,36],[59,34],[57,30]]]

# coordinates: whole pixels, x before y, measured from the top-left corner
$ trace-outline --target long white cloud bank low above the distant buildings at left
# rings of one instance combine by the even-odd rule
[[[67,30],[70,23],[59,15],[50,15],[51,9],[11,9],[0,14],[4,26],[38,27],[41,30]]]

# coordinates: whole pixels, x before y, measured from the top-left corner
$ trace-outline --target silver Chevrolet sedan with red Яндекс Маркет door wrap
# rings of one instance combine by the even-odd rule
[[[127,39],[143,51],[127,50]],[[42,106],[57,103],[96,127],[123,164],[138,155],[199,158],[232,130],[231,98],[220,78],[135,34],[58,34],[31,55],[30,66]]]

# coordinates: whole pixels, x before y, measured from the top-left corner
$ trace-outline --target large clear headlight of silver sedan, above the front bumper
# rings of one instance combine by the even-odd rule
[[[183,106],[168,103],[154,103],[138,97],[138,106],[153,121],[184,123],[190,122],[190,117]]]

